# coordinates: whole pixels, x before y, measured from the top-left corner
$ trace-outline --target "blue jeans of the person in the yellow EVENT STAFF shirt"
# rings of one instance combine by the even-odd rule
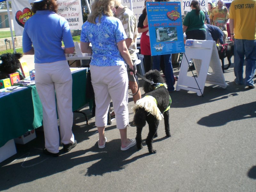
[[[245,59],[244,59],[245,57]],[[246,61],[243,82],[244,60]],[[253,85],[256,68],[256,40],[235,39],[234,72],[237,84]]]

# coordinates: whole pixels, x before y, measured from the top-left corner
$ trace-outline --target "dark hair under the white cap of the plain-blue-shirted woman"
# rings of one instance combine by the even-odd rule
[[[58,4],[56,0],[43,0],[31,5],[31,11],[36,13],[36,11],[50,10],[57,13]]]

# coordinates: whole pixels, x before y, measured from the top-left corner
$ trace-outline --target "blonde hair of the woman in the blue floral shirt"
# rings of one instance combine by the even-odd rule
[[[113,17],[113,12],[111,9],[115,7],[114,0],[95,0],[92,3],[91,14],[88,16],[87,21],[90,23],[96,23],[95,19],[99,17],[99,21],[102,15],[107,15],[108,17]]]

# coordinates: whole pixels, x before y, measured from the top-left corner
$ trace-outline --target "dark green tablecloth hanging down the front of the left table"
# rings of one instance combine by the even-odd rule
[[[89,102],[85,96],[86,74],[87,68],[72,73],[73,111]],[[42,126],[43,109],[35,85],[1,97],[0,106],[0,147]]]

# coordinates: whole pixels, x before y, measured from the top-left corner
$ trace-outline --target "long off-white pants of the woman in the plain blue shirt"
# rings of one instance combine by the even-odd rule
[[[45,148],[51,153],[58,153],[60,142],[63,144],[74,142],[72,75],[66,60],[35,63],[35,71],[36,90],[43,106]],[[55,95],[60,120],[60,138]]]

